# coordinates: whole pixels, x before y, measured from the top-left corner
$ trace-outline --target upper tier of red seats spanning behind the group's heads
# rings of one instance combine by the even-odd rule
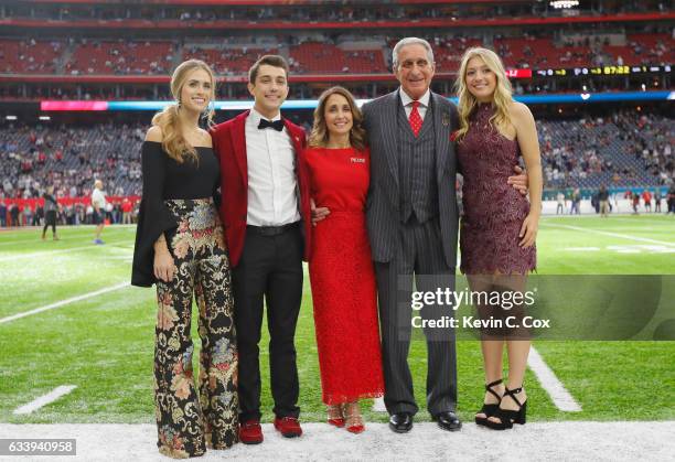
[[[609,64],[672,64],[675,40],[667,34],[623,35],[623,44],[609,44],[598,35],[566,43],[554,36],[444,36],[431,40],[442,72],[457,72],[461,53],[470,46],[494,49],[504,64],[514,68],[571,68]],[[253,42],[253,40],[251,40]],[[373,42],[371,39],[369,42]],[[299,74],[387,74],[390,45],[379,42],[367,49],[341,47],[324,41],[308,41],[278,46],[229,45],[213,41],[200,45],[181,45],[179,41],[81,39],[74,43],[60,40],[0,40],[0,71],[7,74],[65,75],[162,75],[176,58],[199,57],[212,64],[222,75],[246,74],[250,64],[266,53],[280,53],[296,63]]]

